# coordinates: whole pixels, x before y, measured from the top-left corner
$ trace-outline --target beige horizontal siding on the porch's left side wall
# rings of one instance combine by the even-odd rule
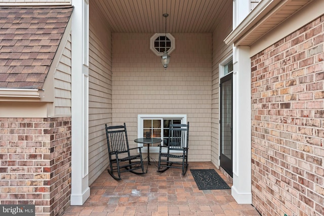
[[[111,33],[90,6],[89,184],[108,166],[105,123],[111,124]]]

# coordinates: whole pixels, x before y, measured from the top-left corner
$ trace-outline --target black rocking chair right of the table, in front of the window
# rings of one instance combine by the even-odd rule
[[[164,172],[169,168],[181,168],[182,175],[186,174],[189,165],[188,138],[189,122],[187,124],[170,124],[167,145],[159,146],[158,172]]]

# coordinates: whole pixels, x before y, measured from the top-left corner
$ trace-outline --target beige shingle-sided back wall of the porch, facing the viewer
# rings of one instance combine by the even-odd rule
[[[210,161],[212,34],[172,34],[176,49],[167,69],[150,50],[152,35],[112,34],[112,122],[126,122],[136,146],[138,114],[187,114],[188,158]]]

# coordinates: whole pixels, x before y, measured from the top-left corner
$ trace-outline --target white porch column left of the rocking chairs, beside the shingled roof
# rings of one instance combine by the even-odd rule
[[[72,177],[71,205],[82,205],[90,196],[88,179],[89,107],[89,2],[72,0]]]

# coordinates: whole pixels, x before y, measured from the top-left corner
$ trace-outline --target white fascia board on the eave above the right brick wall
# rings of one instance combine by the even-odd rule
[[[251,13],[224,39],[226,45],[231,45],[238,38],[242,37],[251,28],[264,18],[275,6],[279,3],[280,5],[286,3],[280,0],[262,0],[259,4],[251,11]]]

